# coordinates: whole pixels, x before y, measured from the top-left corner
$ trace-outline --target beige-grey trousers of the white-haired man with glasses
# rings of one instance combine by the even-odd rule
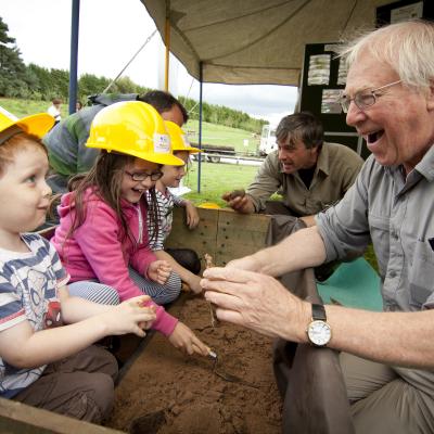
[[[434,372],[340,356],[357,434],[434,433]]]

